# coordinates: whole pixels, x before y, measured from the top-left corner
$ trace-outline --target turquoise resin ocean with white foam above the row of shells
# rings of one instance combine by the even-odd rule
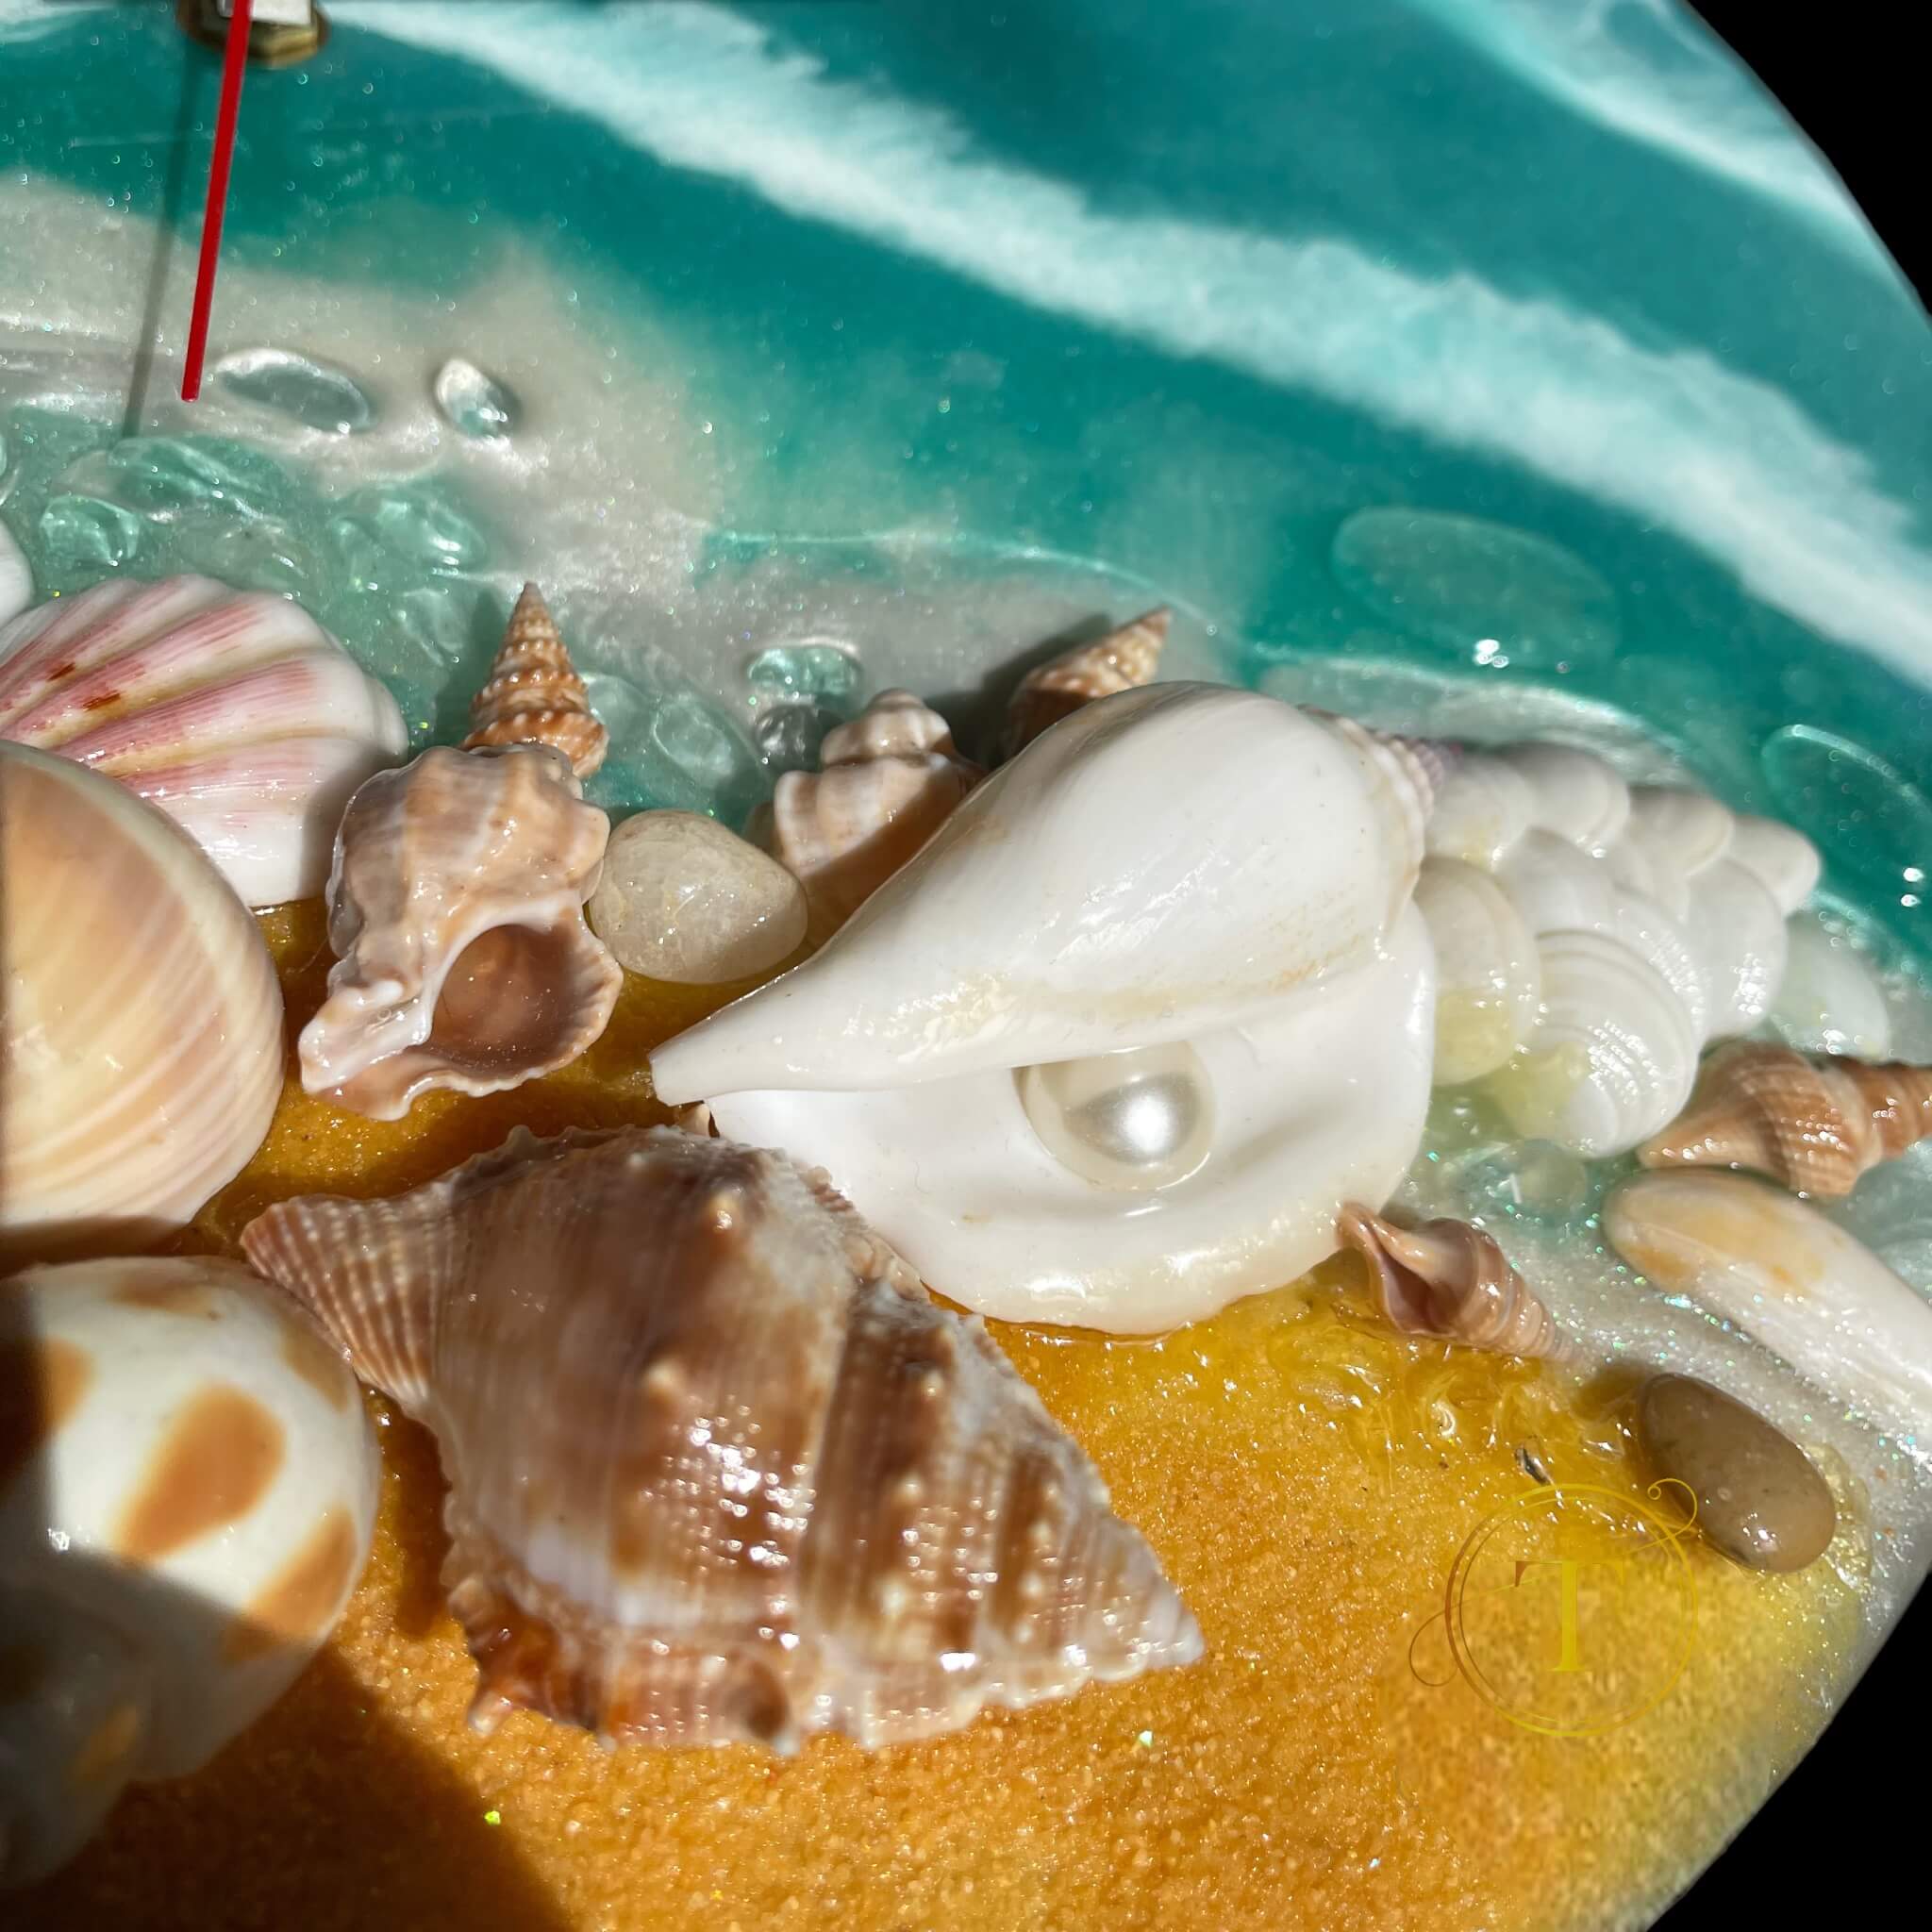
[[[535,574],[601,796],[736,821],[877,674],[983,711],[1028,624],[1161,599],[1182,668],[1383,723],[1634,721],[1922,943],[1932,334],[1689,17],[330,14],[249,75],[195,415],[216,64],[160,6],[0,0],[0,518],[43,591],[286,589],[427,738]],[[651,406],[545,394],[562,321],[506,377],[506,280]]]

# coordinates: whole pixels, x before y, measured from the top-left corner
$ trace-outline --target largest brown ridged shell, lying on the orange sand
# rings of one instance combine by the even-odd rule
[[[877,1747],[1200,1656],[985,1329],[773,1153],[518,1130],[242,1238],[437,1435],[483,1729]]]

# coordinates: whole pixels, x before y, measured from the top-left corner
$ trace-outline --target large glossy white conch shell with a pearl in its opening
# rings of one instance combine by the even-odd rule
[[[651,1059],[956,1300],[1151,1331],[1333,1252],[1428,1105],[1420,753],[1165,684],[1051,726],[815,958]]]

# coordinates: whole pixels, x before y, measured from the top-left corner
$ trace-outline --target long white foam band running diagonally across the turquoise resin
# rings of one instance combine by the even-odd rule
[[[537,89],[655,158],[939,263],[1014,299],[1509,456],[1735,570],[1814,630],[1932,668],[1932,554],[1915,512],[1781,390],[1600,317],[1283,240],[1088,207],[974,158],[947,114],[827,79],[699,4],[605,14],[342,0],[396,41]]]

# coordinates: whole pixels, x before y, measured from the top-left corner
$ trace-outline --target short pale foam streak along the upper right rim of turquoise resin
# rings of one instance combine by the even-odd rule
[[[1677,0],[1410,4],[1540,95],[1762,195],[1861,267],[1891,276],[1837,176]],[[1669,56],[1646,60],[1638,41]]]

